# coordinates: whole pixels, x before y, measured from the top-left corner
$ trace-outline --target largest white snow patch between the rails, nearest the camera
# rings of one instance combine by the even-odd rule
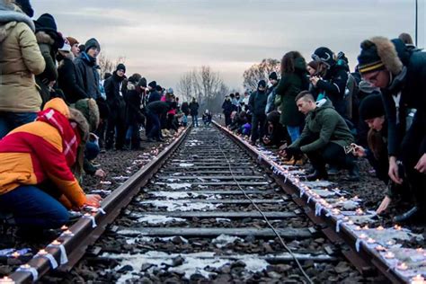
[[[140,271],[143,265],[152,265],[153,267],[148,268],[146,271],[152,273],[154,268],[160,268],[164,271],[177,272],[179,274],[184,274],[183,278],[189,280],[191,275],[200,274],[204,278],[209,279],[210,275],[216,275],[216,272],[211,271],[212,269],[219,269],[226,264],[231,264],[235,262],[232,260],[232,257],[229,258],[219,258],[215,257],[215,253],[162,253],[162,252],[147,252],[144,254],[111,254],[103,253],[102,257],[120,260],[120,267],[115,268],[114,270],[109,271],[118,271],[121,267],[131,266],[133,271],[128,271],[125,274],[120,276],[120,279],[117,280],[118,283],[123,283],[126,280],[131,280],[134,277],[138,277],[133,273],[135,271]],[[183,263],[181,265],[173,266],[173,260],[176,258],[182,258]],[[238,257],[239,261],[245,263],[244,270],[250,272],[258,272],[265,270],[269,263],[259,259],[258,255],[244,255],[244,257]]]

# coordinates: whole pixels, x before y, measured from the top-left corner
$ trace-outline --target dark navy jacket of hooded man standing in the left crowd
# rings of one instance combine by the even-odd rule
[[[80,57],[75,58],[74,63],[78,80],[82,83],[84,92],[87,93],[89,98],[95,100],[101,97],[99,75],[96,71],[96,58],[91,58],[85,52],[82,52]]]

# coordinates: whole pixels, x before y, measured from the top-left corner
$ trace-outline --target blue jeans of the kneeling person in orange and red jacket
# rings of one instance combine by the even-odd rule
[[[33,185],[21,185],[0,195],[0,209],[12,213],[22,228],[58,228],[69,219],[67,209],[45,191]]]

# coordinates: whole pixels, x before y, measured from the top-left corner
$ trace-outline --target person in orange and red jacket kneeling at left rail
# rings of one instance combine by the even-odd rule
[[[36,121],[0,140],[0,209],[22,230],[58,228],[69,219],[67,209],[100,206],[101,197],[85,195],[72,173],[83,166],[88,129],[80,111],[56,98]],[[44,182],[54,186],[44,189]]]

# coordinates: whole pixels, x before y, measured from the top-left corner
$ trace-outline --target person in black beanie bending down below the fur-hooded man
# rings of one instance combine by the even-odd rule
[[[406,184],[398,185],[390,181],[387,175],[387,169],[389,168],[387,155],[387,121],[381,95],[368,95],[359,105],[359,116],[361,120],[364,120],[368,124],[368,149],[353,143],[350,149],[353,155],[367,157],[368,162],[376,171],[377,178],[387,185],[388,191],[386,192],[386,196],[376,210],[377,214],[381,214],[387,209],[390,202],[394,200],[396,193],[408,192],[402,190],[406,188]]]

